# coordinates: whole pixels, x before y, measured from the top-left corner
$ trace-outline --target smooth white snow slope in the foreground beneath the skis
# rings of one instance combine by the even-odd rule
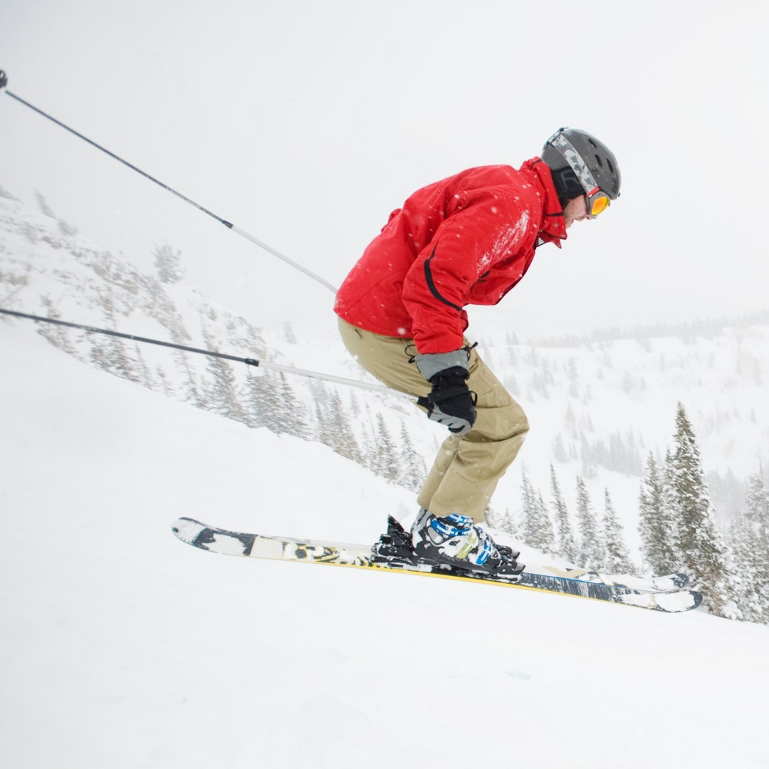
[[[0,321],[0,761],[766,769],[769,628],[244,561],[228,528],[361,541],[411,505]]]

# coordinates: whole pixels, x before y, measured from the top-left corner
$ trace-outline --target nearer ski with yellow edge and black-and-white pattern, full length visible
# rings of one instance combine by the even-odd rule
[[[594,601],[608,601],[668,613],[690,611],[702,602],[701,594],[685,589],[684,574],[661,578],[608,577],[584,569],[558,569],[528,566],[521,574],[477,574],[441,564],[413,562],[407,558],[381,558],[372,553],[371,545],[275,537],[227,531],[195,521],[178,518],[172,526],[174,534],[195,548],[225,555],[268,558],[278,561],[300,561],[377,571],[398,571],[459,581],[499,584],[509,588],[558,593]],[[403,529],[390,518],[388,534],[380,540],[391,541]],[[632,584],[624,584],[625,582]]]

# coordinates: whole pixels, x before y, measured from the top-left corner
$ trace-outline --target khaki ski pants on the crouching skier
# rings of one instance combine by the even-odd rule
[[[409,362],[416,353],[412,339],[374,334],[341,318],[339,331],[351,355],[388,387],[415,396],[430,392],[429,382]],[[448,434],[417,501],[435,515],[461,513],[480,523],[499,479],[521,448],[528,421],[475,348],[469,367],[468,386],[478,395],[478,418],[468,433]]]

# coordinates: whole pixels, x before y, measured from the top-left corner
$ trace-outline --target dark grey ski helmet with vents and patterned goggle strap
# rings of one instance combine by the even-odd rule
[[[600,189],[611,200],[620,196],[617,158],[602,141],[578,128],[559,128],[545,142],[542,160],[550,167],[561,201]]]

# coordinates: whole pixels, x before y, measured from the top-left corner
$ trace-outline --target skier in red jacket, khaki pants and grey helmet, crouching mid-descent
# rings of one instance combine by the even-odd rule
[[[515,568],[481,523],[528,431],[523,409],[464,338],[466,305],[495,305],[542,243],[620,194],[613,153],[561,128],[540,157],[469,168],[414,192],[390,215],[336,295],[341,338],[384,384],[418,396],[450,435],[418,495],[420,558],[468,571]]]

